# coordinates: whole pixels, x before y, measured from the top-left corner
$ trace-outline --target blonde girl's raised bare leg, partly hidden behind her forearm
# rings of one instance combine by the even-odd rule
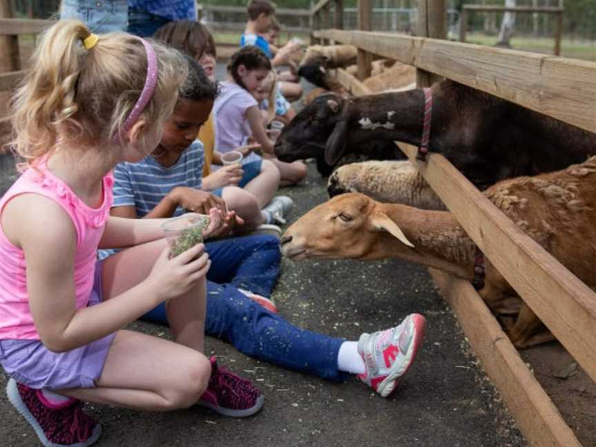
[[[136,286],[148,277],[166,239],[141,244],[112,255],[103,263],[103,299],[110,299]],[[205,337],[206,279],[186,294],[168,302],[168,323],[177,343],[199,352]]]

